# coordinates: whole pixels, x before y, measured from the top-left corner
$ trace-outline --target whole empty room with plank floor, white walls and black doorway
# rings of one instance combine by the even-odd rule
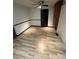
[[[13,0],[13,59],[66,59],[66,0]]]

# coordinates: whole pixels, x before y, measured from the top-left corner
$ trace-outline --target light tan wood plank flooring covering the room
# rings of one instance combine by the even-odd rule
[[[13,45],[13,59],[66,59],[65,44],[51,27],[31,27]]]

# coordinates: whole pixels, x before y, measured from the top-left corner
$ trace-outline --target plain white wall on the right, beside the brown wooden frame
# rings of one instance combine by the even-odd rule
[[[66,43],[66,5],[61,8],[57,32],[61,39]]]

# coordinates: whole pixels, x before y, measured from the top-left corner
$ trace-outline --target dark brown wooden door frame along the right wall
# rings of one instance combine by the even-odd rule
[[[63,0],[58,1],[54,5],[53,25],[54,25],[55,30],[57,30],[62,5],[63,5]]]

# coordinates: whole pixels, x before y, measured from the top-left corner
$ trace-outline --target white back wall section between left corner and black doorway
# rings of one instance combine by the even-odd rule
[[[31,25],[41,26],[40,8],[30,9]]]

